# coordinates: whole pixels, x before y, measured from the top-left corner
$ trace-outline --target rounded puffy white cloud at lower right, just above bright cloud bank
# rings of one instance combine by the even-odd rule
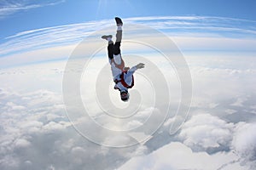
[[[229,147],[233,127],[234,124],[224,122],[217,116],[201,114],[185,122],[178,136],[192,150],[215,152],[219,147]]]

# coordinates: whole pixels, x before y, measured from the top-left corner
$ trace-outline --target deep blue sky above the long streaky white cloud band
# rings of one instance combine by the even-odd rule
[[[150,2],[150,3],[148,3]],[[20,31],[90,20],[199,15],[256,20],[253,0],[10,0],[0,1],[0,39]]]

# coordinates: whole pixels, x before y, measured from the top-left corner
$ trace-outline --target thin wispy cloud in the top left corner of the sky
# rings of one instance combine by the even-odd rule
[[[11,14],[15,14],[20,11],[26,11],[32,8],[42,8],[45,6],[52,6],[59,3],[64,3],[65,0],[47,0],[47,1],[1,1],[0,2],[0,20],[8,17]]]

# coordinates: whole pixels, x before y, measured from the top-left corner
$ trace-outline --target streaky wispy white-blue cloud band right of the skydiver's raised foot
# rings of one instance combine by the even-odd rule
[[[235,31],[240,34],[252,34],[253,37],[256,35],[256,21],[253,20],[208,16],[137,17],[128,20],[173,32],[178,32],[179,30],[183,31],[183,33],[186,31],[219,31],[219,34],[227,35],[230,31]]]

